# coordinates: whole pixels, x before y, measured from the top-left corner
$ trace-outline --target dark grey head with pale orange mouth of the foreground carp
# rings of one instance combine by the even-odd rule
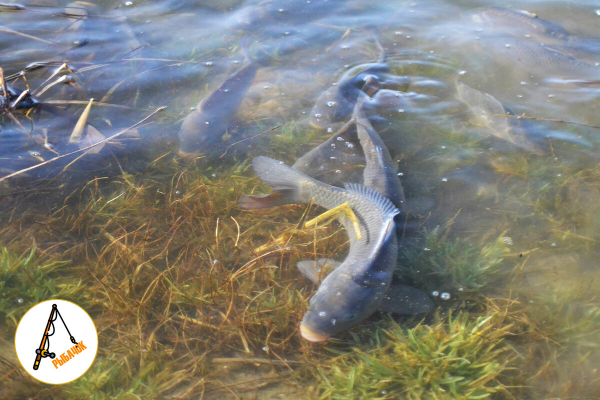
[[[306,340],[325,341],[373,314],[382,302],[389,287],[387,277],[372,284],[352,277],[345,269],[340,266],[329,274],[311,298],[300,324]]]

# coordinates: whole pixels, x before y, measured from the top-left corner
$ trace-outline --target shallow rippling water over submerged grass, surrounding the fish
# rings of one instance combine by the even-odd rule
[[[37,257],[32,266],[0,271],[0,344],[10,349],[20,316],[56,296],[88,309],[104,347],[83,378],[52,392],[5,351],[2,395],[598,396],[598,4],[514,4],[556,24],[541,28],[485,14],[501,2],[21,5],[0,5],[0,66],[11,87],[20,93],[28,85],[44,105],[28,115],[14,111],[21,126],[1,117],[0,172],[74,154],[0,181],[0,246],[11,254],[5,265],[32,248]],[[240,195],[268,190],[249,167],[252,157],[291,165],[346,122],[327,120],[340,104],[319,105],[320,96],[379,65],[374,28],[389,69],[365,112],[398,161],[406,192],[398,274],[428,293],[450,293],[448,301],[435,298],[439,308],[424,321],[433,339],[423,334],[423,343],[442,346],[452,313],[465,311],[470,323],[493,316],[481,335],[502,352],[487,361],[465,349],[453,353],[472,365],[490,362],[490,375],[417,361],[417,351],[392,359],[398,375],[422,364],[440,377],[397,378],[394,386],[389,372],[370,375],[352,354],[389,353],[394,335],[382,332],[394,325],[381,314],[326,347],[304,343],[296,328],[315,288],[294,265],[319,255],[342,259],[346,237],[321,228],[256,254],[293,228],[304,208],[236,206]],[[218,151],[206,159],[182,159],[182,120],[244,65],[244,43],[259,69],[232,113],[231,137],[217,137]],[[34,62],[47,66],[29,68],[26,82],[14,75]],[[73,73],[53,75],[63,62]],[[62,75],[75,84],[47,87]],[[475,123],[481,105],[460,98],[458,82],[488,93],[509,114]],[[167,108],[98,154],[83,154],[68,139],[90,98],[88,122],[104,137]],[[57,260],[66,262],[38,271]],[[421,329],[418,321],[400,324]],[[341,378],[355,373],[365,380]]]

